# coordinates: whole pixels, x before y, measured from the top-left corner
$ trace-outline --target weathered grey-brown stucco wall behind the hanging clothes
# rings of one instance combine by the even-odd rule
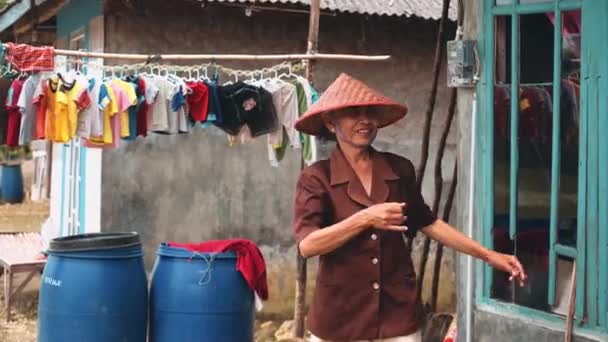
[[[294,53],[306,49],[308,16],[303,14],[264,11],[247,17],[243,9],[201,8],[186,2],[172,2],[173,6],[165,8],[167,2],[158,1],[146,2],[144,13],[134,13],[110,3],[105,13],[106,51]],[[407,103],[410,114],[383,130],[376,146],[407,156],[417,164],[437,23],[414,18],[323,15],[320,26],[322,52],[393,56],[384,63],[319,62],[316,86],[323,90],[340,72],[348,72]],[[433,141],[438,140],[447,111],[444,75],[440,82]],[[448,180],[454,162],[454,136],[450,137],[444,162]],[[429,203],[435,148],[432,144],[424,187]],[[223,133],[214,128],[183,136],[152,135],[105,151],[102,229],[140,232],[148,266],[161,241],[235,236],[253,239],[263,246],[270,268],[274,299],[266,312],[288,313],[295,281],[292,197],[300,157],[298,151],[289,151],[281,167],[272,168],[266,153],[265,138],[229,147]],[[442,283],[453,284],[451,253],[447,254]],[[444,292],[443,303],[453,298],[450,287]]]

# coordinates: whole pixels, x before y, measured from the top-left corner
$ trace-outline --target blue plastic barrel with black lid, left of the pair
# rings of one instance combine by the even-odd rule
[[[40,286],[38,342],[146,342],[142,257],[136,233],[52,240]]]

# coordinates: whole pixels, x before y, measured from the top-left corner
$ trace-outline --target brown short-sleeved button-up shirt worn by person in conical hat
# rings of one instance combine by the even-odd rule
[[[294,209],[298,243],[379,203],[406,203],[410,237],[436,220],[416,190],[409,160],[373,149],[371,158],[369,196],[339,148],[329,160],[302,171]],[[402,233],[372,227],[320,256],[308,313],[315,336],[332,341],[406,336],[419,329],[422,319],[416,273]]]

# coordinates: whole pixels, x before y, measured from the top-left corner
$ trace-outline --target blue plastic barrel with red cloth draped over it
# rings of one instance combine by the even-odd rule
[[[254,295],[234,253],[161,244],[150,288],[150,342],[253,341]]]

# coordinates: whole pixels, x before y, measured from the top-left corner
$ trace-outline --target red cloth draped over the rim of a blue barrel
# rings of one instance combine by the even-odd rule
[[[236,269],[241,272],[249,287],[263,300],[268,299],[266,262],[258,246],[250,240],[210,240],[201,243],[169,242],[170,247],[184,248],[198,253],[236,253]]]

